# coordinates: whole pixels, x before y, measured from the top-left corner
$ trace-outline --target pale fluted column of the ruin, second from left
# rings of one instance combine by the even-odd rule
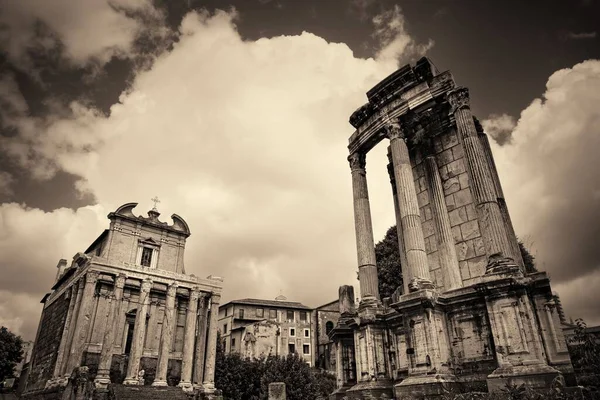
[[[385,130],[392,149],[398,209],[402,222],[402,231],[398,232],[398,236],[403,236],[406,249],[407,268],[403,271],[406,271],[407,275],[404,280],[404,288],[408,290],[405,290],[405,292],[433,289],[434,286],[429,275],[427,253],[425,252],[425,239],[421,226],[417,191],[404,133],[398,122],[390,122]]]

